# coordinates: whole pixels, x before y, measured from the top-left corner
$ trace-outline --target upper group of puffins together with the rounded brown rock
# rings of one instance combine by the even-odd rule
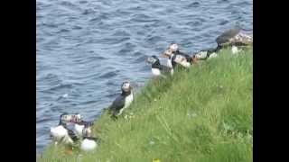
[[[218,44],[216,48],[203,49],[192,53],[191,56],[181,52],[178,44],[172,43],[160,56],[161,58],[168,58],[166,66],[162,65],[160,59],[155,55],[146,58],[145,61],[152,65],[154,76],[172,76],[175,67],[189,68],[193,64],[197,64],[198,60],[216,58],[220,49],[231,48],[231,52],[237,54],[242,50],[242,47],[253,45],[253,37],[239,29],[231,29],[219,35],[216,42]]]

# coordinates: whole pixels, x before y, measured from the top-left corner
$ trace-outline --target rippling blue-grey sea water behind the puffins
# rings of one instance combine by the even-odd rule
[[[253,29],[252,0],[37,0],[37,152],[61,112],[98,117],[124,80],[150,78],[144,58],[172,41],[215,47],[239,24]]]

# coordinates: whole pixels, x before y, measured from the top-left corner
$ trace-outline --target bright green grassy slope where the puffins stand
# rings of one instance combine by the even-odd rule
[[[101,139],[95,152],[66,155],[49,146],[39,161],[78,161],[79,154],[83,162],[252,161],[252,48],[238,56],[220,52],[147,82],[117,121],[104,112],[94,127]]]

